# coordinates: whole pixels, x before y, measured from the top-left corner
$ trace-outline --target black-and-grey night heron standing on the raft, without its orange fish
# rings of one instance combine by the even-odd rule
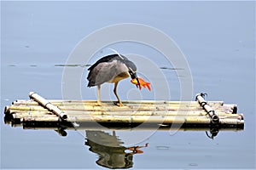
[[[137,88],[141,88],[136,74],[136,65],[121,54],[110,54],[102,57],[94,65],[91,65],[88,71],[90,71],[87,77],[88,87],[97,86],[97,105],[102,105],[101,85],[104,82],[114,83],[113,94],[118,99],[119,106],[123,105],[117,94],[117,86],[120,80],[127,77],[137,79]]]

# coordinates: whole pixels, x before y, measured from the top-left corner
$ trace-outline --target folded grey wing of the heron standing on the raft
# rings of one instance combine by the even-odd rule
[[[87,77],[87,80],[89,81],[88,87],[108,82],[118,74],[118,62],[116,60],[112,62],[99,63],[89,72]]]

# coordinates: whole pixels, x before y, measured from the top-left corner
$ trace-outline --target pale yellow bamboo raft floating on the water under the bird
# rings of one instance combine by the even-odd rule
[[[31,99],[18,99],[4,109],[4,121],[12,127],[29,129],[157,129],[168,130],[243,130],[244,119],[237,106],[223,101],[206,101],[197,94],[195,101],[142,100],[112,101],[47,100],[31,92]]]

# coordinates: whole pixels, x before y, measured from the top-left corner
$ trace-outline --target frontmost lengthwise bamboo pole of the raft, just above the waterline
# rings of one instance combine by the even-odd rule
[[[21,120],[22,124],[26,122],[52,122],[57,123],[56,116],[32,116],[25,117]],[[114,124],[119,124],[123,127],[132,127],[132,124],[148,125],[163,125],[169,126],[170,124],[180,124],[184,127],[209,127],[211,120],[205,116],[69,116],[67,122],[76,123],[107,123],[109,127]],[[60,122],[61,123],[61,122]],[[243,127],[244,120],[237,117],[220,118],[218,127]]]

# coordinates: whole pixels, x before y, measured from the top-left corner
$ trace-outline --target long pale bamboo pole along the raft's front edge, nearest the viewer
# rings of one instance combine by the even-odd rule
[[[24,118],[23,122],[57,122],[56,116],[33,116]],[[68,116],[67,122],[99,122],[121,123],[156,123],[156,124],[210,124],[211,120],[206,116]],[[219,119],[220,124],[242,124],[244,121],[237,118]]]

